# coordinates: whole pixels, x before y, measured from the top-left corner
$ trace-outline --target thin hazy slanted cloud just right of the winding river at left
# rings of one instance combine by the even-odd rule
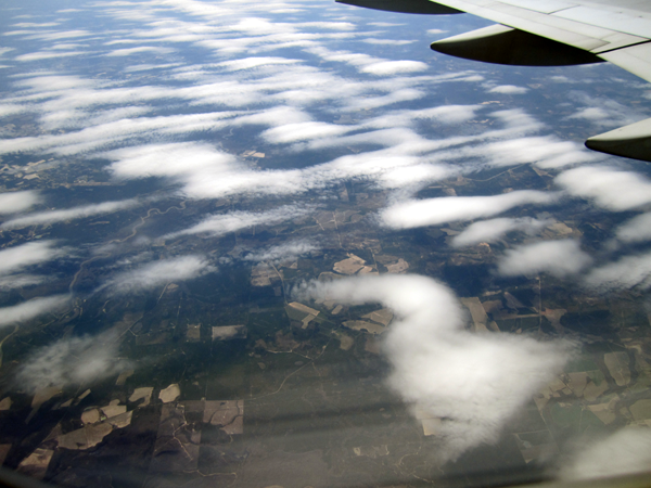
[[[170,281],[192,280],[216,271],[204,256],[190,255],[149,262],[124,271],[108,280],[102,288],[115,294],[154,288]]]

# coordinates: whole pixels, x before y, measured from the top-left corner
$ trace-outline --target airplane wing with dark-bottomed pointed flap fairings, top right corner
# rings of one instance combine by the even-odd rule
[[[651,81],[648,0],[336,0],[406,13],[468,12],[496,25],[432,43],[459,57],[551,66],[609,61]],[[586,145],[651,162],[651,118],[589,138]]]

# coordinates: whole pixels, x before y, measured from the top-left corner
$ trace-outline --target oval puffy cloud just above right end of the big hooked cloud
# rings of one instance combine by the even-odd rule
[[[574,240],[545,241],[509,249],[498,264],[502,275],[548,272],[557,277],[574,274],[592,262]]]

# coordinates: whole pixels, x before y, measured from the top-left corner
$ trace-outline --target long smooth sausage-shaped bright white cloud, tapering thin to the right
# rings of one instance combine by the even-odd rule
[[[551,203],[557,197],[536,190],[494,196],[446,196],[395,204],[382,211],[381,217],[388,227],[409,229],[490,217],[519,205]]]

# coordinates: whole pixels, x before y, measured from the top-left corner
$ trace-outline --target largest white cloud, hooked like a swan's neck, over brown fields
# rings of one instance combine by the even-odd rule
[[[567,359],[566,345],[559,343],[465,331],[456,296],[425,277],[312,283],[301,296],[381,303],[394,311],[383,343],[393,365],[388,384],[414,411],[441,419],[442,462],[497,441],[502,427]]]

